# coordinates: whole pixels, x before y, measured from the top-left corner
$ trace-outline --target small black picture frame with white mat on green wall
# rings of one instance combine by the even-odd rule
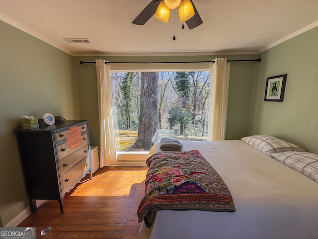
[[[268,77],[264,101],[284,101],[287,74]]]

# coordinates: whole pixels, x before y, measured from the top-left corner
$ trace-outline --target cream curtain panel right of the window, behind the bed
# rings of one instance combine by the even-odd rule
[[[208,140],[224,140],[231,63],[227,62],[227,58],[216,58],[214,61],[211,63]]]

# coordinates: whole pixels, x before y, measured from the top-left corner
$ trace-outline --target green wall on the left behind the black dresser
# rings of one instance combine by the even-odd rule
[[[29,206],[13,133],[19,119],[23,115],[42,118],[45,113],[80,119],[80,112],[74,58],[2,21],[0,32],[0,227],[3,227]]]

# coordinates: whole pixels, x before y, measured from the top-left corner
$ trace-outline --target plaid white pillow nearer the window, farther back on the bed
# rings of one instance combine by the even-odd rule
[[[267,156],[273,157],[272,153],[280,153],[280,152],[287,152],[287,151],[298,151],[298,152],[305,152],[304,149],[301,147],[286,142],[285,140],[276,138],[274,136],[268,135],[252,135],[241,138],[245,143],[248,143],[254,148],[266,153]]]

